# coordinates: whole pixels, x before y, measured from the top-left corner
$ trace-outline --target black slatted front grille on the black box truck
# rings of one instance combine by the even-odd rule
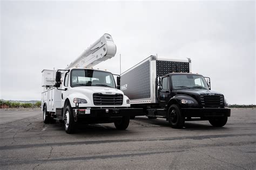
[[[200,102],[203,107],[224,107],[224,96],[201,95]]]

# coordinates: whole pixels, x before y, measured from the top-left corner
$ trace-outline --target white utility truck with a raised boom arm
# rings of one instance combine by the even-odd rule
[[[129,126],[130,116],[143,115],[130,108],[130,100],[113,74],[91,67],[111,59],[116,45],[104,34],[65,69],[42,71],[42,111],[44,123],[59,120],[65,131],[73,133],[78,122],[114,123],[117,129]]]

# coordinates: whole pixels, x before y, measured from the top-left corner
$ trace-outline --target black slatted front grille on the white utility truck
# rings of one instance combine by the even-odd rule
[[[95,93],[93,94],[93,103],[95,105],[122,105],[123,95],[105,95],[101,93]]]

